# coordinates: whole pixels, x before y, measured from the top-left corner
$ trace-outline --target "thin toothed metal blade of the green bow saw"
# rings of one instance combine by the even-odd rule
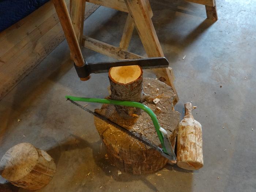
[[[113,121],[109,120],[108,118],[106,118],[106,117],[104,117],[104,116],[102,116],[102,115],[100,115],[100,114],[98,114],[98,113],[95,113],[95,112],[91,111],[90,109],[85,108],[84,106],[80,105],[79,103],[76,103],[75,101],[72,101],[71,99],[67,99],[67,100],[70,101],[71,103],[73,103],[74,105],[78,106],[79,108],[85,110],[86,112],[89,112],[89,113],[93,114],[95,117],[100,118],[101,120],[105,121],[106,123],[108,123],[108,124],[110,124],[110,125],[113,125],[114,127],[118,128],[119,130],[121,130],[121,131],[123,131],[123,132],[125,132],[125,133],[128,133],[131,137],[133,137],[133,138],[135,138],[135,139],[138,139],[140,142],[142,142],[142,143],[144,143],[144,144],[146,144],[146,145],[148,145],[148,146],[154,148],[155,150],[157,150],[159,153],[161,153],[161,155],[163,155],[163,156],[166,157],[167,159],[170,159],[170,158],[171,158],[171,160],[173,160],[172,157],[170,157],[168,154],[165,154],[165,153],[163,152],[163,149],[162,149],[162,148],[160,148],[160,147],[158,147],[158,146],[155,146],[154,144],[152,144],[152,143],[150,143],[150,142],[147,142],[146,140],[144,140],[144,139],[138,137],[135,133],[128,131],[128,130],[125,129],[124,127],[122,127],[122,126],[120,126],[120,125],[114,123]]]

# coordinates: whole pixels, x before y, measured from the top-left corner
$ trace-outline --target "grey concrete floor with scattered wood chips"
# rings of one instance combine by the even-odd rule
[[[64,41],[0,101],[0,156],[15,144],[29,142],[55,159],[56,175],[38,191],[256,191],[255,1],[217,0],[215,23],[205,19],[203,5],[167,0],[151,0],[151,5],[176,76],[180,101],[175,108],[183,116],[185,102],[198,107],[194,117],[203,125],[204,167],[188,172],[167,165],[158,172],[162,176],[118,176],[104,157],[104,146],[100,149],[92,116],[64,98],[106,97],[107,74],[81,82]],[[100,7],[84,28],[87,35],[118,46],[125,18],[125,13]],[[129,50],[146,56],[137,33]],[[90,50],[83,54],[88,62],[110,60]],[[144,76],[155,77],[151,71]]]

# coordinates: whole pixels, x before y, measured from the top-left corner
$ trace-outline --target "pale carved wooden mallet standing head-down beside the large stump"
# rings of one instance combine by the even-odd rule
[[[194,120],[193,106],[185,103],[185,116],[178,129],[177,165],[182,169],[197,170],[203,167],[202,125]]]

